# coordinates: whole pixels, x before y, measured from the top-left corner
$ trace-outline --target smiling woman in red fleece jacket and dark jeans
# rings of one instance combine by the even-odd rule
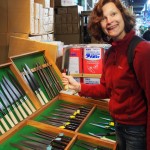
[[[99,41],[112,46],[104,56],[100,84],[78,83],[62,74],[62,82],[80,96],[110,98],[109,112],[115,121],[119,150],[150,150],[150,43],[141,41],[134,49],[134,71],[127,52],[135,36],[135,17],[120,0],[99,0],[88,28]],[[145,93],[145,95],[143,94]]]

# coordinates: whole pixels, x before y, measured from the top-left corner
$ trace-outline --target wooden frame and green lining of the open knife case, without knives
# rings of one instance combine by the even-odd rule
[[[50,88],[51,90],[53,90],[51,95],[48,95],[46,85],[44,86],[42,80],[40,79],[40,75],[38,76],[37,69],[40,68],[36,68],[35,64],[37,63],[40,64],[43,70],[47,71],[50,68],[53,73],[53,76],[50,77],[50,81],[52,82],[51,83],[52,87]],[[38,81],[39,84],[38,88],[41,89],[47,101],[41,103],[39,97],[36,95],[33,88],[31,88],[30,84],[28,84],[25,81],[25,78],[23,77],[26,75],[23,70],[25,64],[29,67],[30,71],[32,72],[32,75],[34,75],[35,79]],[[63,86],[61,84],[61,72],[59,71],[55,63],[51,61],[49,51],[45,50],[35,51],[32,53],[11,57],[10,63],[0,66],[1,72],[0,82],[2,82],[2,84],[4,76],[9,79],[9,76],[7,74],[8,71],[17,79],[22,89],[24,90],[26,97],[28,98],[32,106],[35,108],[35,111],[34,112],[32,111],[32,114],[31,113],[29,114],[25,110],[27,117],[24,117],[22,121],[18,119],[19,120],[19,121],[17,120],[18,123],[16,123],[15,126],[13,127],[10,127],[10,125],[8,124],[9,125],[8,127],[10,129],[8,131],[5,130],[5,133],[0,135],[0,143],[1,143],[0,149],[2,150],[17,149],[12,147],[10,143],[18,142],[19,140],[21,140],[20,135],[29,134],[28,130],[30,131],[30,128],[31,130],[32,128],[36,128],[46,132],[54,132],[57,134],[64,133],[65,136],[71,138],[70,142],[65,147],[66,150],[85,149],[77,146],[78,143],[80,143],[80,141],[95,144],[96,146],[102,146],[112,150],[116,149],[115,136],[106,136],[106,138],[97,138],[88,134],[89,132],[93,132],[95,134],[99,132],[107,133],[105,129],[101,129],[90,125],[90,122],[95,121],[103,122],[104,120],[100,119],[99,116],[111,118],[107,113],[108,112],[107,102],[60,93],[60,90],[63,89]],[[3,91],[2,89],[0,90]],[[2,101],[2,99],[0,100]],[[25,99],[23,99],[23,102],[26,102]],[[17,103],[17,101],[14,103]],[[20,101],[18,103],[21,106],[23,105],[22,103],[20,103]],[[62,105],[67,104],[70,104],[71,106],[79,105],[84,108],[90,108],[87,114],[84,116],[84,118],[81,119],[80,124],[74,130],[60,128],[60,126],[51,125],[43,121],[44,120],[43,116],[51,117],[53,112],[61,109]],[[10,108],[10,110],[14,112],[12,107]],[[4,108],[3,111],[7,114],[6,108]],[[68,116],[68,114],[66,113],[64,114],[64,116]],[[60,117],[59,119],[63,118],[64,116]],[[5,115],[3,115],[2,117],[4,118]],[[18,116],[15,117],[17,118]],[[6,124],[7,123],[8,121],[6,121]],[[1,127],[4,128],[2,123]]]

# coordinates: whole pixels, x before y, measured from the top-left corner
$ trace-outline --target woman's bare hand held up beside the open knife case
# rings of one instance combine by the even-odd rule
[[[66,73],[62,73],[62,83],[65,90],[71,89],[76,92],[80,92],[81,90],[81,84],[78,83],[72,76],[66,75]]]

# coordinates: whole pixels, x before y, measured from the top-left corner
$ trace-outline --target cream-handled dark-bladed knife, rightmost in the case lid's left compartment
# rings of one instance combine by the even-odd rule
[[[9,76],[10,80],[12,81],[12,83],[14,84],[14,86],[16,87],[16,89],[18,90],[18,92],[21,94],[21,96],[24,98],[24,100],[26,101],[26,103],[28,104],[30,109],[32,110],[32,112],[35,112],[36,109],[33,107],[30,100],[27,98],[26,93],[25,93],[24,89],[21,87],[21,85],[19,84],[19,82],[16,80],[16,78],[10,72],[7,72],[7,74]]]

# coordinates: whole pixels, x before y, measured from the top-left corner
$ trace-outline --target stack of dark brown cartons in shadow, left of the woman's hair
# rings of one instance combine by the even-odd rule
[[[55,37],[65,44],[80,43],[80,13],[82,6],[57,7],[55,11]]]

